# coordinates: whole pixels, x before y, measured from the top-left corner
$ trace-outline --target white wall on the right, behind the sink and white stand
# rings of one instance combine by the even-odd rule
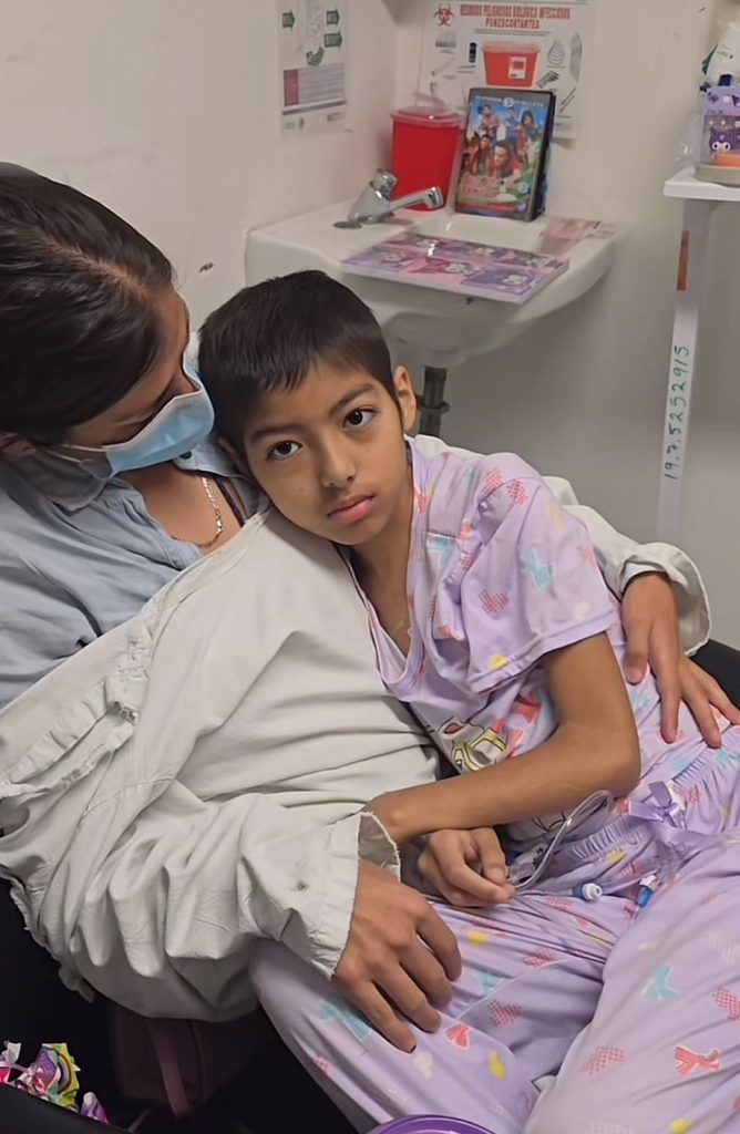
[[[662,196],[714,20],[707,0],[592,0],[583,128],[555,149],[550,209],[619,220],[630,236],[611,277],[529,339],[449,382],[446,437],[505,446],[623,530],[653,539],[671,344],[680,206]],[[418,18],[405,6],[400,86],[415,78]],[[740,209],[716,218],[682,543],[705,573],[715,629],[740,645]],[[733,489],[731,488],[733,486]]]

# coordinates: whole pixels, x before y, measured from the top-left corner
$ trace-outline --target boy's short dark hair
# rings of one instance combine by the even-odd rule
[[[201,328],[200,374],[218,432],[238,452],[262,395],[296,389],[317,363],[363,371],[396,400],[390,353],[375,315],[323,272],[293,272],[243,288]]]

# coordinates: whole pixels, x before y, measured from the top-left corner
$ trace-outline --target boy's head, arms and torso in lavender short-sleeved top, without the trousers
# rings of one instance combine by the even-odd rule
[[[429,844],[428,877],[449,900],[511,897],[493,824],[530,848],[592,794],[628,795],[640,763],[653,782],[704,753],[695,727],[666,770],[649,675],[640,753],[612,648],[619,608],[586,532],[516,457],[428,460],[406,446],[409,373],[350,289],[317,272],[247,289],[207,321],[200,364],[236,460],[287,519],[346,549],[389,691],[459,771],[478,772],[373,805],[397,843],[476,832],[436,857],[443,840]],[[646,877],[651,863],[650,850]]]

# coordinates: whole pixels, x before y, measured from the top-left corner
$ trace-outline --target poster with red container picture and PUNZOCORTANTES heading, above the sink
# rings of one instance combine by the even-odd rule
[[[422,91],[454,107],[466,102],[473,86],[507,86],[514,81],[553,91],[554,136],[575,137],[590,31],[590,0],[427,0]]]

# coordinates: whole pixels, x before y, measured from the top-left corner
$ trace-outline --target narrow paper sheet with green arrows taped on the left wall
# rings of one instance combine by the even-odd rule
[[[276,0],[286,136],[340,129],[347,113],[347,0]]]

